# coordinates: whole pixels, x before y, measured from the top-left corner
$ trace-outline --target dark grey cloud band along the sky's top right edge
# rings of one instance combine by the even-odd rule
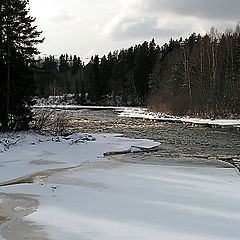
[[[135,0],[131,6],[143,12],[171,12],[198,18],[239,20],[239,0]]]

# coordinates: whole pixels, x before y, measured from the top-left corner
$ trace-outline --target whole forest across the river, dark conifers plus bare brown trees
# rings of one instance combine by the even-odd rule
[[[176,115],[240,113],[240,26],[193,33],[163,46],[150,42],[98,55],[39,59],[37,95],[75,94],[79,104],[145,106]]]

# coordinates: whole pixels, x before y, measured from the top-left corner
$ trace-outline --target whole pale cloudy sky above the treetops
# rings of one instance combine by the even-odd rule
[[[30,0],[45,42],[42,54],[107,54],[155,38],[234,28],[239,0]]]

